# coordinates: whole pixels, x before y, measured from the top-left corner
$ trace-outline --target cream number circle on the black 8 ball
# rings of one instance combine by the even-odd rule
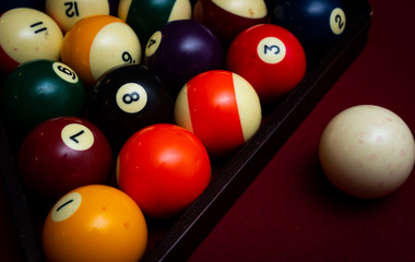
[[[116,100],[122,111],[135,114],[147,104],[147,93],[143,86],[137,83],[127,83],[118,90]]]

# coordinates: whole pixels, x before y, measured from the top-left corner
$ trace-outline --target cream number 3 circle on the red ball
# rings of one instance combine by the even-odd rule
[[[282,40],[276,37],[263,38],[257,47],[259,58],[265,63],[278,63],[286,55],[286,48]]]

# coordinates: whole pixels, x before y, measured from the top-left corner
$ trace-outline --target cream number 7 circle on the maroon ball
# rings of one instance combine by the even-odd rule
[[[94,144],[94,134],[80,123],[67,124],[61,131],[63,143],[72,150],[85,151]]]

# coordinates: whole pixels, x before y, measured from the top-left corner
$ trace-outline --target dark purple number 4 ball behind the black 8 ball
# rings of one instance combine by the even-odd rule
[[[223,69],[224,49],[208,27],[190,21],[173,21],[155,32],[144,62],[176,94],[194,75]]]

